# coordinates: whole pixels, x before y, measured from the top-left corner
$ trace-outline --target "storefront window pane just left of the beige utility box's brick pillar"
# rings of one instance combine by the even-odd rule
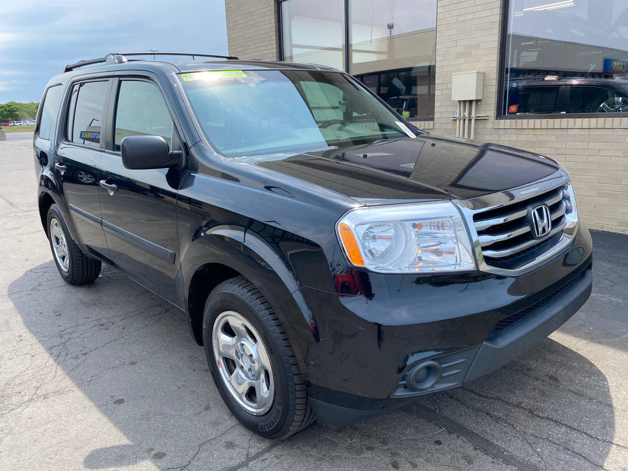
[[[349,72],[399,114],[434,116],[436,0],[350,0]]]

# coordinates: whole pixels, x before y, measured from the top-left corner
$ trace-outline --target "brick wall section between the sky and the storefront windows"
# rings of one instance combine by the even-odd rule
[[[225,0],[229,54],[277,60],[275,0]]]

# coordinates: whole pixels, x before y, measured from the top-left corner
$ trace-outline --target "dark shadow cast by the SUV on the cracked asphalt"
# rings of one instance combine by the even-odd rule
[[[42,366],[41,355],[24,355],[23,394],[63,401],[59,381],[69,379],[128,440],[86,450],[79,464],[90,469],[146,462],[160,470],[249,463],[431,470],[561,463],[584,470],[604,465],[614,440],[604,374],[550,339],[487,377],[367,423],[342,430],[315,423],[289,440],[269,441],[239,425],[222,403],[185,314],[113,269],[104,266],[93,284],[76,287],[48,262],[13,281],[8,293],[36,339],[33,348],[53,360]],[[80,410],[68,414],[81,418]]]

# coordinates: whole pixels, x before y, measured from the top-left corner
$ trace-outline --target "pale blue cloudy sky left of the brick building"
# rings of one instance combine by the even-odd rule
[[[224,0],[3,1],[0,103],[39,101],[64,65],[151,49],[226,55]]]

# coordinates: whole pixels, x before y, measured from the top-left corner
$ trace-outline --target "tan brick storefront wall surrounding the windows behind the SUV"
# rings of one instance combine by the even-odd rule
[[[312,8],[316,8],[312,1]],[[274,0],[225,0],[229,52],[276,60]],[[455,134],[453,72],[484,72],[475,138],[527,149],[559,161],[573,178],[588,227],[628,234],[628,118],[496,119],[502,0],[438,0],[434,122]]]

